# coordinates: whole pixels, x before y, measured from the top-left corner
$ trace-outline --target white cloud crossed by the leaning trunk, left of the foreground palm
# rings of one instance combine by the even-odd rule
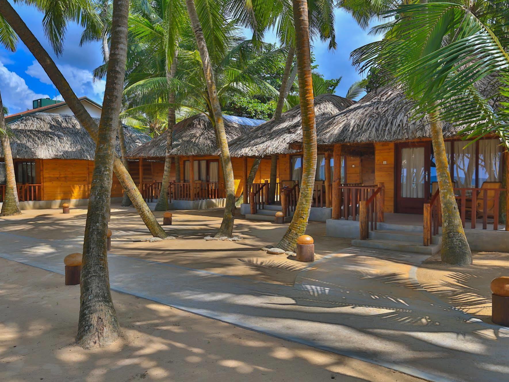
[[[106,85],[105,80],[94,82],[92,72],[89,70],[79,69],[68,64],[57,66],[78,97],[87,96],[102,103],[104,87]],[[37,78],[42,83],[53,84],[37,61],[32,62],[32,65],[26,69],[25,73]]]

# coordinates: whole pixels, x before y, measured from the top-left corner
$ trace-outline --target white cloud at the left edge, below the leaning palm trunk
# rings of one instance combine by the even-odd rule
[[[2,101],[9,108],[9,113],[17,113],[32,108],[32,101],[49,98],[46,94],[38,94],[31,90],[25,80],[7,69],[0,62],[0,92]]]

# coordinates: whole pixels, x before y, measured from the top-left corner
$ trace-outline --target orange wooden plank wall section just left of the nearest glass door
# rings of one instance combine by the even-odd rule
[[[384,182],[385,212],[394,212],[394,153],[394,143],[375,143],[375,183]]]

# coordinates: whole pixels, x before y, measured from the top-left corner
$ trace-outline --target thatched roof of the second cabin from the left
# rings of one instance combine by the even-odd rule
[[[224,115],[224,129],[228,140],[247,134],[253,126],[263,121],[238,119]],[[241,125],[237,122],[250,125]],[[257,122],[258,121],[258,122]],[[166,155],[166,132],[152,139],[138,148],[127,153],[129,158],[158,158]],[[175,125],[173,130],[173,145],[170,155],[203,156],[214,155],[218,150],[216,133],[212,123],[204,113],[193,115]]]

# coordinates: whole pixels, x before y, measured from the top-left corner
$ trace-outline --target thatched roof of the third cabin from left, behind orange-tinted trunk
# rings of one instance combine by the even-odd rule
[[[315,97],[317,125],[352,104],[354,104],[353,101],[333,94]],[[283,113],[279,121],[270,120],[253,129],[249,134],[233,140],[229,143],[229,148],[233,157],[265,157],[272,154],[293,153],[295,150],[289,148],[289,143],[301,140],[300,105],[297,105]]]

